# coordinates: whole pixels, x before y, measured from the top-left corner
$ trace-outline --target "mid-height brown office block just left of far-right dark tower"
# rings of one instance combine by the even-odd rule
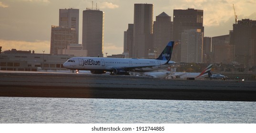
[[[230,35],[212,38],[214,63],[230,64],[234,60],[234,45],[229,45]]]

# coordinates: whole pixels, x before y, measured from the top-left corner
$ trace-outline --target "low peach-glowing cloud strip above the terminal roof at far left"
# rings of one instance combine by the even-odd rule
[[[16,40],[3,40],[0,39],[0,46],[2,46],[2,52],[5,50],[17,49],[24,51],[35,51],[35,53],[43,53],[42,50],[45,50],[46,54],[50,53],[50,41],[40,41],[36,40],[35,42],[28,41],[16,41]]]

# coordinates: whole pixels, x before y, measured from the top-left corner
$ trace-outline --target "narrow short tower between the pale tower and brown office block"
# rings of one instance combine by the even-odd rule
[[[203,63],[213,63],[212,38],[204,37],[203,46]]]

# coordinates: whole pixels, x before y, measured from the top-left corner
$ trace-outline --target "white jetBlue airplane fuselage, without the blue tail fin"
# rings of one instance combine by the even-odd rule
[[[169,63],[172,62],[169,61]],[[133,71],[154,71],[160,69],[165,63],[165,60],[157,59],[72,57],[63,66],[73,70],[102,70],[112,72],[114,68],[128,69],[132,67]]]

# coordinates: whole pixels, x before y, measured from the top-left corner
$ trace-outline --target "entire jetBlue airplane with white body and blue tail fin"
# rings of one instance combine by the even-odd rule
[[[77,72],[79,70],[89,70],[92,74],[104,74],[109,71],[114,75],[129,75],[129,71],[154,71],[175,63],[170,61],[173,47],[174,41],[170,41],[156,59],[72,57],[63,66]]]

